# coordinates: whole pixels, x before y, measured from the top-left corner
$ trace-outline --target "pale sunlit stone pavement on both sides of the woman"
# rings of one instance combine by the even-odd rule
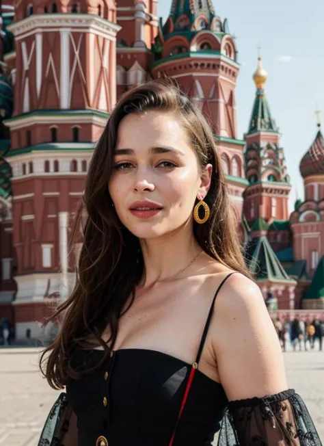
[[[0,445],[36,446],[57,391],[38,371],[38,349],[0,349]],[[324,443],[324,352],[284,354],[288,384],[303,397]]]

